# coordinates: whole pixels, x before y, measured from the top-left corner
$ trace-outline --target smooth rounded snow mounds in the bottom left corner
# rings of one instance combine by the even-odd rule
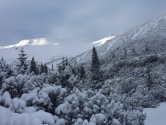
[[[58,120],[59,121],[59,120]],[[54,117],[47,112],[38,111],[32,114],[13,113],[9,109],[0,106],[0,125],[55,125]],[[64,125],[63,119],[60,119],[57,125]]]

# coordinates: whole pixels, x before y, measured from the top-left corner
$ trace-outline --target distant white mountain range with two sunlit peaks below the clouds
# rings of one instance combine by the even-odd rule
[[[0,57],[5,61],[13,62],[18,58],[19,50],[23,47],[29,60],[35,57],[38,62],[55,62],[58,63],[62,57],[71,58],[84,51],[91,49],[93,46],[100,46],[107,40],[114,38],[110,35],[102,40],[92,43],[52,43],[45,38],[26,39],[17,44],[0,46]]]

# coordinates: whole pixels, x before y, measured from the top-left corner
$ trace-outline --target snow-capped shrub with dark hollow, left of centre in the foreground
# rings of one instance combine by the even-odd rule
[[[21,99],[26,101],[27,106],[54,114],[55,108],[63,102],[67,90],[61,88],[61,86],[51,86],[49,84],[44,86],[42,89],[38,87],[29,93],[23,94]]]

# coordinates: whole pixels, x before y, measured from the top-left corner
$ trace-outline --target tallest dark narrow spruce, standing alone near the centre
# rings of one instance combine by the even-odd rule
[[[92,87],[99,88],[99,82],[102,81],[102,75],[100,72],[100,63],[97,55],[96,48],[92,49],[92,63],[91,63],[91,72],[92,72]],[[97,84],[98,83],[98,84]]]

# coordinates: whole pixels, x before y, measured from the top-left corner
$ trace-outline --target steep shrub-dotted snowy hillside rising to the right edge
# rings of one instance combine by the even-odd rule
[[[104,86],[128,105],[156,107],[166,100],[166,12],[96,47]],[[89,50],[70,60],[84,64],[91,79]],[[124,97],[123,97],[124,96]],[[140,101],[139,101],[140,100]]]

